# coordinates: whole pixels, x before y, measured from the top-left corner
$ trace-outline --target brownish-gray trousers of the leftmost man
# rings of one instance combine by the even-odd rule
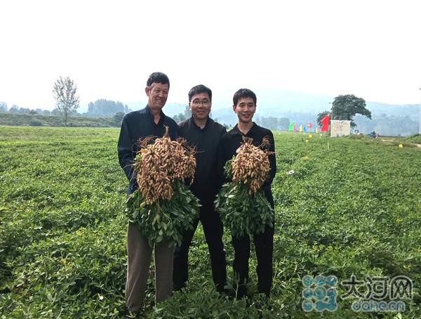
[[[155,303],[170,296],[173,289],[174,247],[169,247],[169,244],[170,242],[161,242],[152,249],[138,228],[128,225],[126,306],[129,311],[137,313],[142,310],[152,250],[155,261]]]

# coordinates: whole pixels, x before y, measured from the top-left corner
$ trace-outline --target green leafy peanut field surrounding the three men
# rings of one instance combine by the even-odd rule
[[[0,126],[0,318],[123,318],[126,177],[119,129]],[[274,286],[261,307],[250,259],[250,298],[213,288],[201,228],[185,292],[147,318],[421,318],[421,149],[374,139],[275,132],[278,171]],[[396,142],[396,143],[395,143]],[[405,142],[405,141],[402,141]],[[417,142],[415,138],[412,143]],[[225,234],[228,273],[232,246]],[[302,311],[301,278],[406,275],[413,299],[402,313]]]

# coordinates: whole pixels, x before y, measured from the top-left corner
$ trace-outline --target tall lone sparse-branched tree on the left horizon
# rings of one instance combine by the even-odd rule
[[[76,95],[76,84],[69,77],[60,77],[55,80],[53,86],[53,96],[56,100],[56,109],[61,112],[65,118],[67,126],[67,117],[77,108],[79,108],[79,96]]]

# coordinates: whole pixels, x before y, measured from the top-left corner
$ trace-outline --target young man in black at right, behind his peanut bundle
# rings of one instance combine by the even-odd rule
[[[274,152],[274,135],[269,129],[265,129],[255,124],[253,115],[256,111],[257,98],[253,91],[249,89],[239,89],[234,93],[233,110],[238,117],[238,124],[234,129],[222,136],[218,147],[218,171],[222,181],[227,181],[223,175],[225,163],[236,155],[236,150],[243,142],[243,136],[253,138],[253,145],[258,146],[263,138],[269,139],[269,151]],[[274,153],[269,155],[270,171],[267,181],[262,185],[262,190],[274,208],[271,183],[276,173],[276,159]],[[254,235],[255,252],[258,259],[258,291],[269,297],[272,287],[272,255],[274,242],[274,228],[267,226],[260,235]],[[250,238],[247,236],[232,236],[234,247],[234,275],[236,278],[236,297],[242,298],[247,294],[248,281],[248,259],[250,257]]]

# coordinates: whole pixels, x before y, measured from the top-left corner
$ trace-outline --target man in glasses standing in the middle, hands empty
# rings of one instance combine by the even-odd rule
[[[194,86],[189,91],[189,109],[192,117],[178,124],[178,135],[185,138],[189,145],[196,147],[196,174],[190,189],[202,205],[199,219],[208,243],[213,282],[218,292],[222,292],[227,280],[222,243],[223,226],[220,215],[213,206],[213,200],[219,188],[216,152],[220,137],[226,130],[224,126],[210,119],[211,103],[212,91],[204,85]],[[192,230],[187,230],[183,234],[181,246],[175,249],[173,271],[175,290],[185,287],[187,282],[189,247],[199,219],[195,221]]]

